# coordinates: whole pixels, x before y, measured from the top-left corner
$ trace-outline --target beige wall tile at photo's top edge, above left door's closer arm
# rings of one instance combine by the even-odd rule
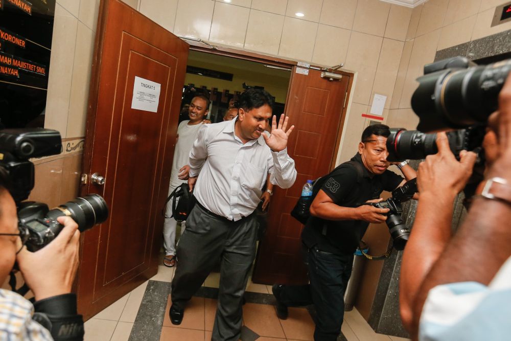
[[[177,4],[174,34],[198,37],[205,40],[209,39],[214,7],[215,2],[211,0],[179,1]]]

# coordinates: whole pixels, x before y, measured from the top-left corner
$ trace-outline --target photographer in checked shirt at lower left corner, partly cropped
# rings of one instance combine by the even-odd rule
[[[17,261],[36,302],[0,289],[0,339],[81,340],[83,320],[71,293],[78,269],[78,225],[70,217],[57,218],[64,228],[55,240],[35,253],[27,251],[8,186],[0,167],[0,282],[6,282]]]

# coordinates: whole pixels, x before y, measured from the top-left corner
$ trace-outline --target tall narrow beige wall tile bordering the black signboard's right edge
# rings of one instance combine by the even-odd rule
[[[60,131],[66,136],[67,112],[71,94],[73,76],[73,58],[75,52],[78,19],[60,5],[55,7],[53,24],[53,44],[50,59],[48,95],[44,127]]]

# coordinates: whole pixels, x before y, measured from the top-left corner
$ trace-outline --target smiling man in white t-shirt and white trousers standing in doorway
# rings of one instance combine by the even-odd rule
[[[192,99],[188,108],[190,120],[182,121],[177,128],[177,142],[174,149],[174,159],[172,161],[172,172],[170,175],[169,195],[174,189],[186,182],[188,179],[188,156],[192,150],[193,143],[197,139],[197,134],[202,126],[204,117],[207,115],[210,107],[210,99],[204,95],[197,95]],[[172,200],[167,203],[166,217],[172,216]],[[166,218],[163,228],[165,258],[163,264],[172,267],[176,264],[176,226],[177,221],[174,218]],[[181,223],[181,231],[184,229],[184,221]]]

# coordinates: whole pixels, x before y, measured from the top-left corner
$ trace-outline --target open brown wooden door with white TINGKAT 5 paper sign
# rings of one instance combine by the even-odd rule
[[[78,307],[86,318],[157,272],[160,211],[189,51],[187,43],[119,0],[102,1],[100,11],[84,173],[99,173],[106,182],[89,182],[81,192],[103,195],[110,215],[83,234]],[[160,84],[159,98],[152,99],[156,112],[132,108],[133,97],[144,102],[138,85],[133,95],[135,77]]]

